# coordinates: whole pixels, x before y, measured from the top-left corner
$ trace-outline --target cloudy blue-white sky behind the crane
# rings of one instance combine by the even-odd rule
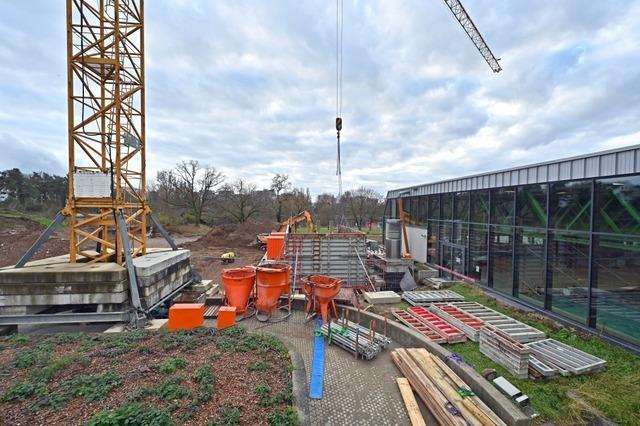
[[[66,173],[65,9],[0,0],[0,169]],[[640,1],[344,2],[344,187],[640,143]],[[149,177],[198,159],[315,195],[335,177],[335,2],[147,0]]]

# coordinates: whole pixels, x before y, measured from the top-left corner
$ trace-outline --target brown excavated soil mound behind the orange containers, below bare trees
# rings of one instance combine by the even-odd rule
[[[231,223],[216,226],[196,241],[184,244],[185,248],[197,250],[205,247],[246,247],[255,244],[261,232],[271,232],[277,228],[275,222]]]

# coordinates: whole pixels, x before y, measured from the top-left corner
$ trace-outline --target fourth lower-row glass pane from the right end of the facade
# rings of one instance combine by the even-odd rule
[[[492,287],[513,294],[513,228],[491,226],[491,271]]]

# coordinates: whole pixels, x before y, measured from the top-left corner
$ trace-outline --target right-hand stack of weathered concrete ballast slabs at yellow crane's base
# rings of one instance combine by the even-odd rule
[[[149,250],[133,259],[140,300],[149,308],[191,279],[189,250]]]

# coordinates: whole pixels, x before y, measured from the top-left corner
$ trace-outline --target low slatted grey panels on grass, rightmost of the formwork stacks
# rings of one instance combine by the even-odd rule
[[[594,373],[603,370],[607,361],[554,339],[526,344],[535,358],[563,376]]]

